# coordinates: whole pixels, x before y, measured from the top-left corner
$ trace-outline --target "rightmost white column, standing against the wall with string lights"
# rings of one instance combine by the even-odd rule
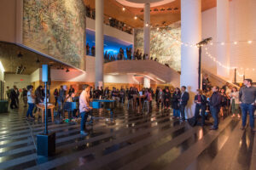
[[[230,67],[230,28],[229,28],[229,0],[217,0],[217,42],[225,42],[217,45],[218,61]],[[222,77],[230,77],[230,70],[217,64],[217,74]]]

